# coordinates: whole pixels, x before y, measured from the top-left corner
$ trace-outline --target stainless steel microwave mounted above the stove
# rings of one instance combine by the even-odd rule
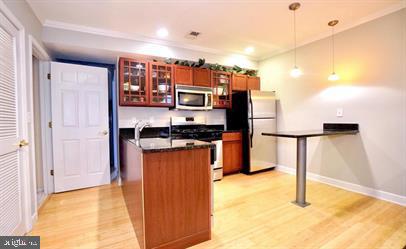
[[[210,87],[176,85],[176,109],[211,110],[213,109],[213,90]]]

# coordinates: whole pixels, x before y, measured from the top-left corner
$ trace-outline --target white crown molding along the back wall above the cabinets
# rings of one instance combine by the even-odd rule
[[[137,34],[128,34],[128,33],[123,33],[123,32],[118,32],[118,31],[113,31],[113,30],[93,28],[93,27],[84,26],[84,25],[77,25],[77,24],[70,24],[70,23],[59,22],[59,21],[45,20],[44,23],[43,23],[43,26],[44,27],[49,27],[49,28],[55,28],[55,29],[62,29],[62,30],[69,30],[69,31],[81,32],[81,33],[88,33],[88,34],[93,34],[93,35],[100,35],[100,36],[113,37],[113,38],[119,38],[119,39],[146,42],[146,43],[162,45],[162,46],[176,47],[176,48],[199,51],[199,52],[215,54],[215,55],[227,56],[227,55],[234,54],[234,55],[244,56],[247,59],[252,60],[254,62],[258,61],[258,58],[248,56],[248,55],[245,55],[245,54],[241,54],[241,53],[237,53],[237,52],[232,52],[232,51],[228,52],[228,51],[222,51],[222,50],[213,49],[213,48],[190,45],[190,44],[186,44],[186,43],[165,41],[165,40],[154,39],[154,38],[150,38],[150,37],[142,36],[142,35],[137,35]]]

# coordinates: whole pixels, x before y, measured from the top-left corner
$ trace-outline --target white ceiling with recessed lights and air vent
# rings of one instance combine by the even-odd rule
[[[167,43],[197,50],[241,53],[255,48],[254,59],[266,58],[293,45],[293,0],[28,0],[44,25],[58,23],[114,31],[134,39],[154,39],[166,27]],[[402,0],[301,0],[297,11],[298,44],[399,9]],[[63,26],[63,25],[62,25]],[[185,38],[199,31],[196,40]],[[162,42],[162,41],[161,41]]]

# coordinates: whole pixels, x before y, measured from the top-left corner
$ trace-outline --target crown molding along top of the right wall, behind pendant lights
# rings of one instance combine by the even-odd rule
[[[373,20],[375,20],[375,19],[378,19],[378,18],[380,18],[380,17],[383,17],[383,16],[386,16],[386,15],[392,14],[392,13],[394,13],[394,12],[396,12],[396,11],[399,11],[399,10],[401,10],[401,9],[403,9],[403,8],[406,8],[406,0],[401,1],[401,2],[399,2],[398,4],[394,4],[393,6],[391,6],[391,7],[389,7],[389,8],[386,8],[386,9],[384,9],[384,10],[382,10],[382,11],[379,11],[379,12],[376,12],[376,13],[374,13],[374,14],[368,15],[368,16],[366,16],[366,17],[364,17],[364,18],[361,18],[361,19],[359,19],[357,22],[339,26],[339,27],[335,28],[335,32],[334,32],[334,33],[335,33],[335,35],[337,35],[337,34],[340,33],[340,32],[343,32],[343,31],[346,31],[346,30],[355,28],[355,27],[357,27],[357,26],[359,26],[359,25],[361,25],[361,24],[364,24],[364,23],[373,21]],[[330,32],[330,31],[324,32],[324,33],[322,33],[322,34],[320,34],[320,35],[317,35],[317,36],[315,36],[315,37],[313,37],[313,38],[311,38],[311,39],[307,39],[307,40],[305,40],[304,42],[299,43],[299,44],[297,45],[297,48],[303,47],[303,46],[305,46],[305,45],[307,45],[307,44],[310,44],[310,43],[313,43],[313,42],[316,42],[316,41],[319,41],[319,40],[322,40],[322,39],[327,38],[327,37],[329,37],[329,36],[331,36],[331,32]],[[284,49],[279,49],[279,50],[277,50],[277,51],[275,51],[275,52],[272,52],[272,53],[269,54],[269,55],[260,57],[260,58],[259,58],[259,62],[264,61],[264,60],[267,60],[267,59],[270,59],[270,58],[272,58],[272,57],[274,57],[274,56],[277,56],[277,55],[280,55],[280,54],[289,52],[289,51],[291,51],[291,50],[293,50],[293,49],[294,49],[293,46],[290,46],[290,47],[284,48]]]

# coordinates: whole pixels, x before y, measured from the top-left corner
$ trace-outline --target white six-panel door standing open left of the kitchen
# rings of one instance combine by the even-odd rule
[[[110,183],[107,69],[51,63],[55,192]]]

